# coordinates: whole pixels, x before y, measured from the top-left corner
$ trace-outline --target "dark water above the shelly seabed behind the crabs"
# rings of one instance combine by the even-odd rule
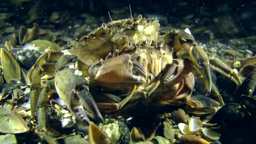
[[[95,17],[99,22],[110,21],[108,11],[113,20],[127,18],[130,16],[129,4],[133,16],[142,14],[158,17],[163,19],[160,21],[162,27],[186,24],[191,27],[192,32],[198,28],[211,29],[216,34],[216,39],[248,37],[256,33],[256,2],[253,0],[1,0],[0,13],[12,13],[1,21],[19,27],[29,19],[31,13],[37,18],[26,25],[31,25],[32,22],[49,24],[45,19],[53,12],[59,12],[60,18],[64,17],[62,21],[50,24],[53,29],[61,29],[84,21],[85,18],[81,17],[84,13]],[[32,10],[33,7],[37,8]],[[197,35],[204,37],[203,32],[197,32]]]

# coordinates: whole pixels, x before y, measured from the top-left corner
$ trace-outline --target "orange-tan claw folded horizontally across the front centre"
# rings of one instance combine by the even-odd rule
[[[139,76],[133,75],[133,72]],[[145,83],[147,75],[144,67],[139,62],[131,61],[128,55],[98,61],[89,67],[88,74],[103,83]]]

